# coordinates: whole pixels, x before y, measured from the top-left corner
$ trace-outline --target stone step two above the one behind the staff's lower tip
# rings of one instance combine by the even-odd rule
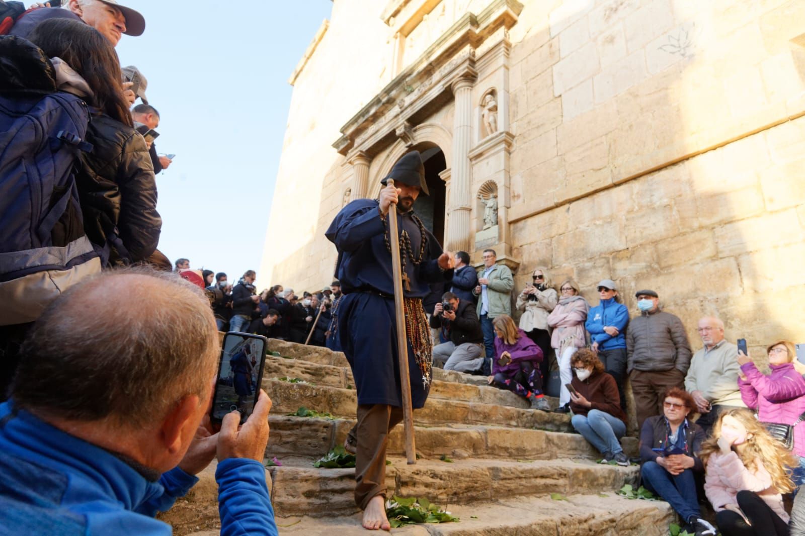
[[[446,372],[445,377],[452,378],[452,371]],[[456,375],[459,373],[456,373]],[[308,381],[316,386],[337,387],[339,389],[354,390],[355,381],[349,367],[336,367],[320,365],[308,361],[283,359],[282,357],[269,357],[266,359],[266,368],[263,377],[276,380],[281,377],[298,378]],[[473,376],[470,376],[473,377]],[[483,385],[472,385],[451,380],[434,379],[431,386],[431,398],[448,398],[450,400],[464,400],[466,402],[483,402],[485,404],[498,404],[527,409],[530,407],[525,398],[511,391],[497,389],[489,386],[486,381]],[[559,399],[546,397],[551,408],[559,406]]]

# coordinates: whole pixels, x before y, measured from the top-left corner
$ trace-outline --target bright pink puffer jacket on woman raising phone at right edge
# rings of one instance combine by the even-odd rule
[[[741,399],[750,410],[758,410],[763,423],[794,424],[805,413],[805,378],[792,363],[770,365],[771,373],[764,375],[754,363],[741,365],[743,380],[738,377]],[[794,428],[794,453],[805,456],[805,422]]]

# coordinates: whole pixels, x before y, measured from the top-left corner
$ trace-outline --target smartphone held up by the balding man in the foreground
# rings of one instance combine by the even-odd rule
[[[241,413],[241,423],[246,422],[260,394],[265,364],[265,337],[234,332],[224,336],[210,415],[213,423],[221,423],[235,410]]]

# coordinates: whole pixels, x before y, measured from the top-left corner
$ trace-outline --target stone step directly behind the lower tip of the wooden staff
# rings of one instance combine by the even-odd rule
[[[266,458],[310,456],[320,458],[343,445],[354,419],[300,418],[272,415]],[[601,454],[578,434],[493,426],[447,425],[415,427],[416,451],[427,459],[448,456],[455,460],[551,460],[582,458],[598,460]],[[621,440],[628,456],[638,456],[638,440]],[[389,437],[390,456],[404,456],[403,427],[394,427]]]

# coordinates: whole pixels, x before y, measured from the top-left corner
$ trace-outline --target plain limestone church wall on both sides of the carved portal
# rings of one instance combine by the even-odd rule
[[[492,0],[396,3],[399,18],[431,9],[402,56],[378,2],[336,0],[295,82],[265,285],[328,282],[323,233],[353,180],[331,146],[339,129],[448,22]],[[632,310],[634,291],[654,287],[693,341],[697,317],[714,313],[753,346],[805,340],[805,2],[522,3],[503,87],[518,287],[539,266],[595,303],[612,277]],[[427,121],[452,135],[452,102]],[[390,151],[371,155],[369,196]]]

